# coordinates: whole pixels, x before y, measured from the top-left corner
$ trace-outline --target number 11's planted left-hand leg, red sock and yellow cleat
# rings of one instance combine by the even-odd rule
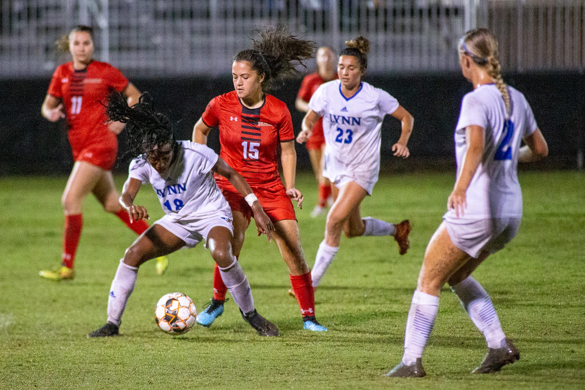
[[[77,251],[83,225],[81,204],[85,196],[91,192],[95,184],[102,178],[104,172],[102,168],[85,161],[77,161],[73,165],[73,170],[71,170],[61,197],[61,205],[63,205],[65,213],[61,265],[53,271],[40,271],[40,276],[53,280],[73,279],[75,252]]]

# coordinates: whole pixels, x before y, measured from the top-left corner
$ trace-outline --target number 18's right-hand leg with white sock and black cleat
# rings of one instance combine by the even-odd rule
[[[223,283],[242,312],[242,317],[260,336],[278,336],[278,328],[259,315],[254,308],[250,283],[236,257],[232,254],[232,233],[225,226],[215,226],[207,235],[207,246],[218,265]]]

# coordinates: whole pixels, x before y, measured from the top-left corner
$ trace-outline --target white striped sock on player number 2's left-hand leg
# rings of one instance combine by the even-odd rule
[[[439,311],[439,297],[415,291],[406,322],[404,356],[402,363],[412,365],[422,357],[426,340],[431,336],[435,318]]]

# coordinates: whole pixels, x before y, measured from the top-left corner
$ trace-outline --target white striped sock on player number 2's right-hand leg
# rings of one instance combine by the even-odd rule
[[[476,279],[467,277],[464,281],[452,286],[451,290],[459,296],[461,305],[477,329],[486,336],[487,347],[503,347],[506,335],[495,313],[494,304],[491,303],[490,296],[481,284]]]

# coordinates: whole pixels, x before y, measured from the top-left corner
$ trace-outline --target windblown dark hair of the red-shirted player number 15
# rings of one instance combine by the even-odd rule
[[[305,60],[315,51],[315,42],[299,39],[283,29],[257,29],[260,39],[252,39],[252,49],[240,51],[233,61],[249,61],[252,69],[264,74],[262,90],[278,88],[284,78],[301,73],[295,67],[305,66]]]

